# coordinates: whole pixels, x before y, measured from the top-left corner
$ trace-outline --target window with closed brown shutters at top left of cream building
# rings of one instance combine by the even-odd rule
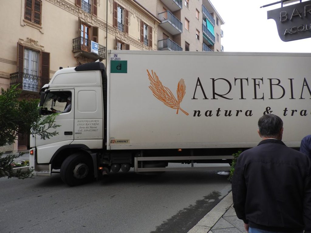
[[[42,2],[39,0],[25,1],[25,20],[34,24],[41,25],[41,6]]]

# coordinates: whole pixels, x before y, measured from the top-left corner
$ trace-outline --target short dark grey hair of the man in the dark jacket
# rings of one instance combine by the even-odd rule
[[[274,114],[266,114],[259,118],[258,129],[263,137],[276,137],[283,128],[283,121]]]

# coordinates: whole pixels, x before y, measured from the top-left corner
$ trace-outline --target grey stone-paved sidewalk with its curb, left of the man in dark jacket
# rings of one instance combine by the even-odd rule
[[[188,233],[246,233],[232,207],[232,192],[225,196]]]

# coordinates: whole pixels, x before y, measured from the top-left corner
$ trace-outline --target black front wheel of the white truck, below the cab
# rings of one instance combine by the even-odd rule
[[[82,185],[94,178],[91,158],[82,153],[69,155],[60,168],[60,176],[69,186]]]

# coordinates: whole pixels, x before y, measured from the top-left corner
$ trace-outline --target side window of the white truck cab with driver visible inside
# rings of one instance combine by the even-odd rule
[[[63,113],[71,111],[71,92],[70,91],[50,91],[45,95],[42,106],[42,115],[53,112]]]

